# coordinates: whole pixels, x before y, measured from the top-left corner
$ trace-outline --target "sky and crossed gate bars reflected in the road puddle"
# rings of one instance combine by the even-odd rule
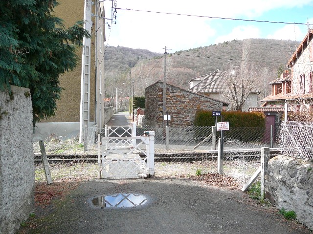
[[[133,193],[119,193],[115,195],[98,196],[92,199],[94,206],[105,207],[135,207],[143,205],[147,202],[147,198],[143,195]]]

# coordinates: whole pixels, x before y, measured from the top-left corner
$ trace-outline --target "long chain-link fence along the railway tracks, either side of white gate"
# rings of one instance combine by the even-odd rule
[[[109,136],[102,129],[101,137]],[[212,142],[212,127],[165,127],[145,126],[136,128],[136,135],[155,131],[156,176],[188,176],[218,172],[218,138]],[[112,135],[126,134],[127,127],[111,128]],[[230,128],[224,131],[224,173],[243,183],[260,165],[261,147],[269,146],[265,128]],[[114,133],[114,134],[113,134]],[[131,135],[131,134],[130,134]],[[166,142],[166,140],[168,141]],[[96,128],[88,129],[88,147],[78,142],[78,137],[61,141],[51,136],[45,140],[52,179],[82,180],[98,176],[98,137]],[[166,144],[167,143],[167,144]],[[34,143],[36,180],[45,181],[40,161],[40,148]]]

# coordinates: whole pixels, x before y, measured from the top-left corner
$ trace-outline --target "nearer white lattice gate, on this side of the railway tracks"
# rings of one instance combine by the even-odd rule
[[[154,137],[154,131],[137,137],[103,137],[102,178],[154,176]]]

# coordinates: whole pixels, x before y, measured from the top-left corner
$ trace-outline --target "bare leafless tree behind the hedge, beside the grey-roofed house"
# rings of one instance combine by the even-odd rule
[[[252,92],[257,91],[260,71],[258,64],[248,61],[250,40],[243,42],[242,61],[239,67],[228,67],[225,98],[230,102],[232,110],[242,111]]]

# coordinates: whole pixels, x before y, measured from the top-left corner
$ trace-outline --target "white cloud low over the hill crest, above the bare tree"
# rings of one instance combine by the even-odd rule
[[[231,40],[244,40],[248,38],[260,38],[260,29],[255,26],[238,26],[227,34],[218,37],[215,43],[223,43]]]

